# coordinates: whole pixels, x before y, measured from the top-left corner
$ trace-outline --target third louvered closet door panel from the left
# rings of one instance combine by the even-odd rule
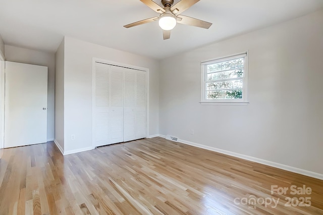
[[[124,135],[123,141],[136,139],[135,111],[136,111],[136,70],[124,68]]]

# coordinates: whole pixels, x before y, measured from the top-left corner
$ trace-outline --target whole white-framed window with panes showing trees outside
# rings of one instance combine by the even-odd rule
[[[201,103],[247,103],[247,53],[201,63]]]

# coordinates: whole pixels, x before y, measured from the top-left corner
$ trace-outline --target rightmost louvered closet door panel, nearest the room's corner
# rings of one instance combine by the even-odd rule
[[[136,139],[146,137],[146,72],[136,72]]]

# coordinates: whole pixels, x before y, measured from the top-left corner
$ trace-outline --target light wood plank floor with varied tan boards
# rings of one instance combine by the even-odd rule
[[[66,156],[52,142],[5,149],[0,185],[1,215],[323,214],[321,180],[163,138]],[[272,185],[312,192],[271,194]],[[311,205],[285,206],[293,197]],[[265,206],[272,198],[277,207]]]

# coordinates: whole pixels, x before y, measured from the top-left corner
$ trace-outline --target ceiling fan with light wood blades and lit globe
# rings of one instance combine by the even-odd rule
[[[141,20],[138,22],[131,23],[129,25],[125,25],[125,28],[131,28],[137,25],[142,25],[145,23],[153,22],[158,20],[158,24],[161,29],[163,29],[163,36],[164,39],[171,38],[171,30],[176,26],[176,23],[184,24],[184,25],[191,25],[200,28],[208,29],[212,23],[205,22],[199,19],[195,19],[192,17],[187,17],[180,15],[195,3],[199,2],[200,0],[181,0],[174,6],[174,0],[161,0],[161,4],[164,8],[161,8],[152,0],[140,0],[143,4],[154,10],[155,12],[159,13],[159,17],[152,17],[149,19]]]

